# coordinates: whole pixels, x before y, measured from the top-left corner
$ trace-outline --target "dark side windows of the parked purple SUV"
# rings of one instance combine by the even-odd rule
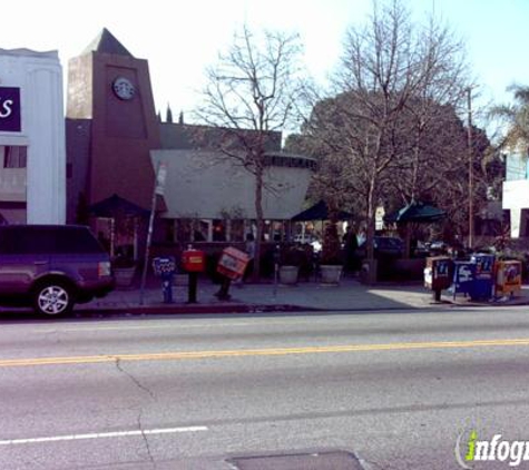
[[[12,226],[0,229],[0,254],[101,253],[87,227]]]

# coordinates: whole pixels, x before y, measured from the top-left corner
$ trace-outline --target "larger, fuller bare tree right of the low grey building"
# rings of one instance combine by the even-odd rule
[[[325,144],[324,155],[342,161],[346,185],[364,199],[369,258],[383,179],[406,167],[405,190],[415,196],[431,157],[421,155],[427,129],[440,105],[464,96],[464,53],[452,37],[433,20],[413,23],[399,0],[375,1],[369,22],[347,33],[331,109],[314,108],[305,127]]]

